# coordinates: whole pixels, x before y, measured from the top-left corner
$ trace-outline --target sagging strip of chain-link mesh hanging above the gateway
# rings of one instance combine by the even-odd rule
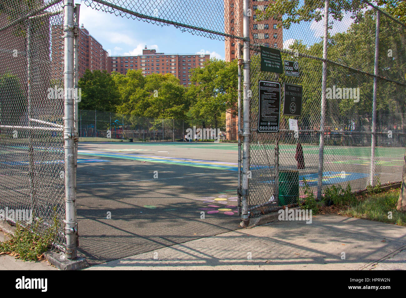
[[[173,25],[182,32],[189,32],[210,39],[241,38],[242,24],[225,21],[233,10],[233,0],[84,0],[93,9],[112,13],[128,19],[137,19],[160,26]],[[242,13],[236,12],[236,15]],[[235,18],[238,19],[238,18]],[[241,27],[241,29],[240,29]]]

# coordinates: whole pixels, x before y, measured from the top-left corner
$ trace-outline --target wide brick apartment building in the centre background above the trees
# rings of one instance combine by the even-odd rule
[[[199,54],[165,54],[155,49],[143,49],[138,56],[108,57],[107,71],[116,71],[125,75],[129,70],[142,70],[144,76],[152,73],[171,73],[184,86],[191,85],[190,76],[194,68],[203,68],[203,63],[210,60],[210,55]]]

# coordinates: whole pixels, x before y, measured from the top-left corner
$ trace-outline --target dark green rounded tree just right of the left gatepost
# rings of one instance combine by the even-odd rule
[[[79,109],[115,112],[121,103],[116,83],[107,71],[86,69],[79,88],[82,90]]]

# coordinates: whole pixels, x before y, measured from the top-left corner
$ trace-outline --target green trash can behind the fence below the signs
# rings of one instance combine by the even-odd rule
[[[279,206],[299,203],[299,171],[279,171]]]

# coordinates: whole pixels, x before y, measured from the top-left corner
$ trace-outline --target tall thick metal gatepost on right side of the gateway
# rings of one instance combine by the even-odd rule
[[[243,122],[244,130],[242,132],[243,139],[243,157],[242,157],[242,187],[241,187],[241,203],[242,203],[242,226],[248,226],[248,171],[250,169],[250,98],[248,97],[248,90],[250,90],[250,30],[249,30],[249,16],[248,6],[249,0],[244,0],[243,4],[243,37],[244,37],[244,88],[243,88]],[[251,92],[250,92],[251,93]]]

